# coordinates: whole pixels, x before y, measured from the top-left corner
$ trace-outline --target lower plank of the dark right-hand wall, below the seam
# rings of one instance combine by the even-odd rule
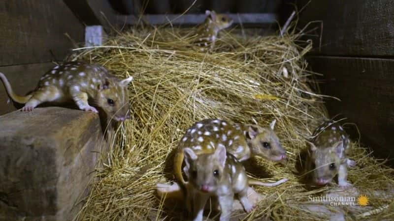
[[[361,141],[394,165],[394,59],[311,56],[308,61],[324,74],[322,92],[341,99],[327,100],[330,115],[342,113],[356,123]]]

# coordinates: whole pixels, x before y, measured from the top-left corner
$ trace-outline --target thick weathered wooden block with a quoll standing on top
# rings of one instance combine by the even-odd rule
[[[14,111],[0,131],[0,220],[74,220],[108,150],[99,115]]]

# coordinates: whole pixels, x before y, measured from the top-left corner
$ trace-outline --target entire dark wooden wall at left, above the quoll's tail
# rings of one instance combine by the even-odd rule
[[[65,58],[74,47],[70,38],[84,41],[84,25],[62,0],[3,0],[0,18],[0,72],[21,94],[35,88],[52,61]],[[0,115],[15,110],[7,100],[1,84]]]

